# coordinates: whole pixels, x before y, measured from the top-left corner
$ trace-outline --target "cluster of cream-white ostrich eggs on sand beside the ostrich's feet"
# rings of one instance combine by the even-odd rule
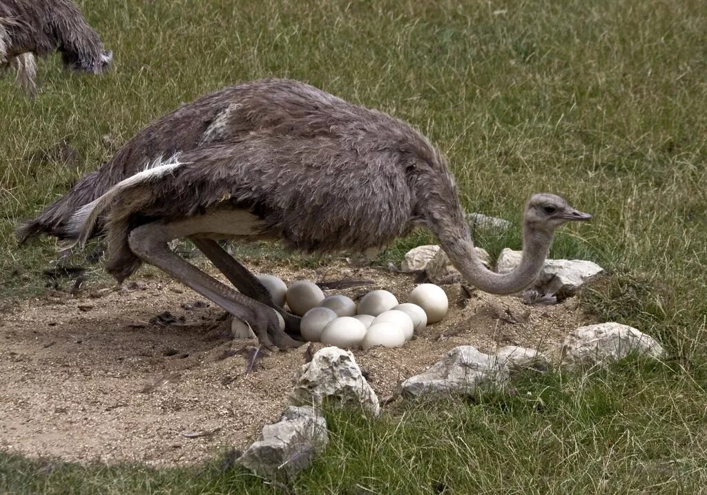
[[[328,296],[310,281],[296,281],[287,287],[272,275],[258,275],[280,306],[287,303],[291,312],[303,317],[300,333],[308,342],[351,348],[375,346],[402,347],[428,323],[447,314],[449,301],[443,289],[420,284],[399,304],[388,291],[371,291],[356,303],[346,296]]]

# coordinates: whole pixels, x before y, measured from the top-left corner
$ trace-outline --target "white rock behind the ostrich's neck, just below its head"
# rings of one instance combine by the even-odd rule
[[[520,251],[504,249],[498,256],[496,272],[510,272],[520,264],[521,256]],[[586,260],[545,260],[533,287],[545,294],[571,296],[602,272],[602,267]]]

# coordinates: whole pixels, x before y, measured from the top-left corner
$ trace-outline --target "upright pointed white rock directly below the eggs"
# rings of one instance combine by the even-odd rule
[[[380,412],[378,397],[361,375],[354,354],[338,347],[320,349],[300,368],[288,400],[295,405],[326,402]]]

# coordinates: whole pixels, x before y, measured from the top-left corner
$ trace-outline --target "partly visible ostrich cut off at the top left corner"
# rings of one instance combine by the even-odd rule
[[[18,83],[35,95],[35,56],[54,50],[64,66],[91,74],[100,74],[112,59],[73,1],[0,0],[0,71],[14,67]]]

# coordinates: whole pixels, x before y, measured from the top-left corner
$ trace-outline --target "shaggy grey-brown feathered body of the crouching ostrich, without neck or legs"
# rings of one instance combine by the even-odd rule
[[[18,235],[75,238],[67,223],[76,210],[170,156],[182,164],[121,190],[90,232],[107,233],[108,269],[120,280],[139,264],[129,231],[214,208],[248,209],[264,235],[306,251],[380,247],[417,223],[440,238],[469,238],[452,176],[419,132],[278,79],[232,86],[161,117]]]

